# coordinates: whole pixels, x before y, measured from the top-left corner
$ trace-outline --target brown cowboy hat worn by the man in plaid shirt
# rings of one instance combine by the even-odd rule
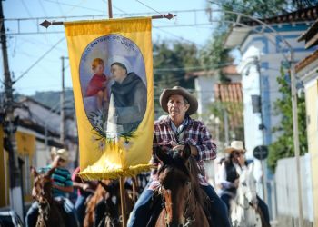
[[[184,98],[188,101],[190,104],[189,109],[186,111],[186,114],[194,114],[196,110],[198,109],[198,101],[196,100],[196,97],[194,94],[189,93],[186,89],[184,89],[181,86],[174,86],[171,89],[164,89],[163,93],[160,95],[160,105],[164,109],[165,112],[168,113],[168,100],[169,97],[173,94],[179,94],[184,96]]]

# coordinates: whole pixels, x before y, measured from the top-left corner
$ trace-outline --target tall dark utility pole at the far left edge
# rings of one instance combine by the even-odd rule
[[[21,188],[21,173],[18,163],[18,154],[16,150],[15,141],[15,115],[14,115],[14,97],[13,97],[13,82],[11,80],[9,62],[6,48],[6,36],[5,36],[5,20],[2,1],[0,4],[0,23],[1,23],[1,46],[3,55],[3,64],[5,72],[5,121],[6,128],[5,133],[8,139],[7,152],[9,153],[9,172],[10,172],[10,206],[11,209],[17,212],[20,218],[23,216],[23,200],[22,200],[22,188]]]

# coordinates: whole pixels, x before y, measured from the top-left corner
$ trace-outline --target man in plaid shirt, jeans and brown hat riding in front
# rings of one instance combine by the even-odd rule
[[[214,192],[214,188],[207,183],[204,173],[204,161],[212,160],[216,156],[216,145],[212,142],[211,134],[204,123],[190,117],[197,110],[198,103],[193,94],[180,86],[172,89],[164,89],[160,95],[160,105],[168,116],[154,123],[154,144],[151,163],[159,167],[159,160],[155,155],[156,147],[161,146],[165,151],[184,148],[184,144],[190,144],[191,154],[197,162],[201,174],[198,175],[202,189],[211,202],[215,226],[230,226],[224,202]],[[140,195],[131,212],[129,227],[143,227],[147,225],[152,213],[152,198],[154,190],[160,186],[155,168],[151,175],[150,183]]]

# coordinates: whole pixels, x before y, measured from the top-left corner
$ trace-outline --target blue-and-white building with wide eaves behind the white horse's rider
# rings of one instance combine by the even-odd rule
[[[247,158],[253,158],[256,146],[267,146],[280,135],[273,133],[273,127],[279,125],[282,118],[274,110],[275,101],[282,98],[277,77],[281,76],[284,65],[285,74],[288,73],[290,47],[293,48],[295,62],[311,53],[304,48],[303,43],[297,42],[297,38],[318,17],[317,11],[318,7],[314,6],[263,19],[267,26],[254,21],[243,21],[232,27],[226,38],[225,45],[237,47],[242,56],[237,70],[242,75]],[[259,180],[258,192],[270,208],[273,208],[272,174],[268,173],[265,162],[255,160],[254,163],[254,175]]]

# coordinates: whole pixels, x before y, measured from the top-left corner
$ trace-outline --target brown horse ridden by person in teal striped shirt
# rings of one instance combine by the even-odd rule
[[[39,206],[36,227],[66,226],[65,213],[62,212],[63,206],[55,202],[52,196],[51,175],[54,172],[55,168],[52,168],[47,173],[40,174],[34,167],[31,167],[31,173],[35,177],[32,196]]]

